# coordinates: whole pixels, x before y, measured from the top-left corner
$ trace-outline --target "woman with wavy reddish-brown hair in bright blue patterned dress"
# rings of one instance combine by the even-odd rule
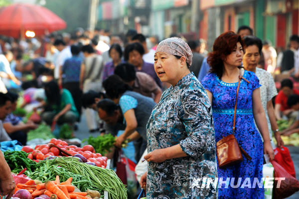
[[[253,185],[254,178],[261,181],[263,177],[263,151],[269,154],[270,159],[274,158],[267,120],[261,103],[259,79],[253,72],[244,71],[239,67],[244,55],[243,46],[244,43],[240,35],[232,31],[221,34],[214,42],[213,52],[208,56],[211,73],[206,75],[201,82],[212,102],[217,143],[223,137],[232,134],[240,73],[244,72],[243,77],[249,81],[241,80],[235,137],[252,160],[243,157],[244,160],[241,163],[225,169],[218,167],[218,178],[223,178],[223,181],[230,181],[229,185],[232,185],[232,178],[236,179],[233,185],[238,185],[239,178],[242,178],[240,187],[237,189],[232,188],[233,186],[219,185],[219,199],[263,199],[264,189],[259,188],[259,186],[255,186],[255,189],[246,186],[246,181],[248,181],[246,178],[250,178],[247,185],[248,183]],[[254,119],[263,136],[264,145],[255,127]]]

